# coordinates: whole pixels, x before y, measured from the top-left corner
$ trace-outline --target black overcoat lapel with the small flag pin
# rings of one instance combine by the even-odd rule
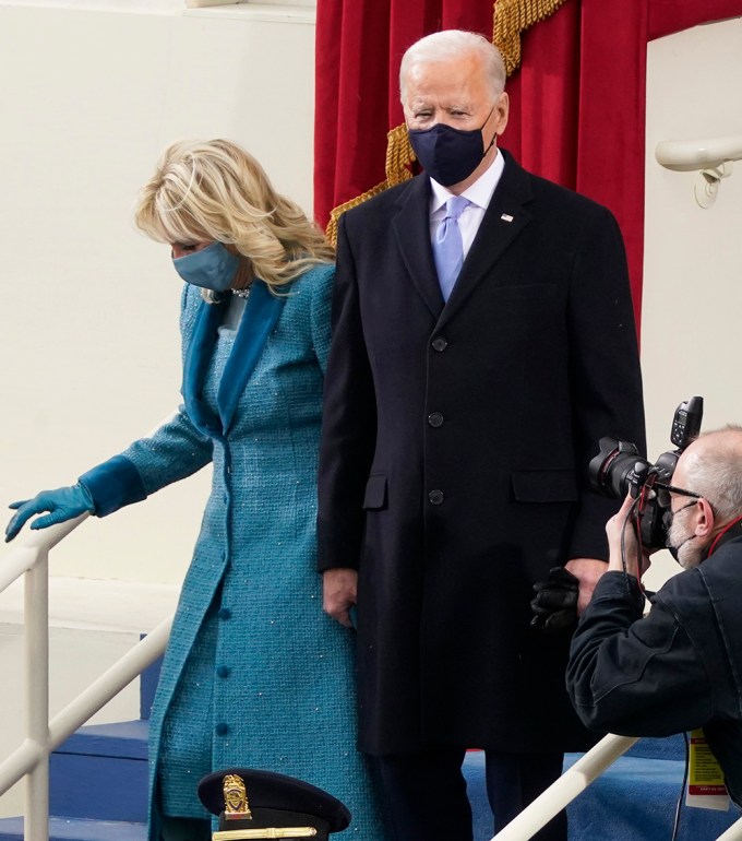
[[[439,328],[462,307],[531,220],[526,209],[532,199],[529,176],[506,152],[502,154],[505,168],[464,261],[462,273],[441,313]]]

